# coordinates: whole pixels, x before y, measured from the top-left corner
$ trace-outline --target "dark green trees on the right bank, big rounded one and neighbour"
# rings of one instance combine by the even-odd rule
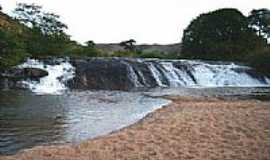
[[[189,59],[240,61],[270,73],[270,10],[244,16],[233,8],[199,15],[184,30],[182,56]]]

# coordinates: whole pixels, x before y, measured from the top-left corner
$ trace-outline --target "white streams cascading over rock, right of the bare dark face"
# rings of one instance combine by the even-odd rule
[[[254,77],[249,73],[250,67],[234,63],[158,59],[133,61],[146,64],[159,87],[270,87],[269,77]],[[128,76],[135,87],[147,87],[145,82],[149,75],[144,75],[141,68],[134,67],[125,59],[121,62],[127,66]]]

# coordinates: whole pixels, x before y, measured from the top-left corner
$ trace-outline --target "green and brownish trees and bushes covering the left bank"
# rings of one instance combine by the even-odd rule
[[[18,3],[10,17],[0,11],[0,68],[25,57],[97,56],[94,42],[72,41],[60,16],[35,4]]]

